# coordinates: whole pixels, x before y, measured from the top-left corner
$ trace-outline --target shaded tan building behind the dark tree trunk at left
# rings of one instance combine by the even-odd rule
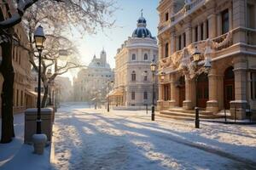
[[[13,4],[12,1],[6,1],[0,6],[0,19],[8,18],[13,14],[12,12]],[[14,26],[15,39],[14,42],[19,41],[19,43],[14,43],[12,60],[15,69],[15,83],[14,83],[14,113],[25,111],[26,108],[31,108],[36,105],[36,94],[32,90],[32,65],[29,62],[29,53],[27,46],[29,44],[26,31],[21,24]],[[3,39],[2,39],[3,40]],[[3,59],[2,48],[0,41],[0,59]],[[25,49],[26,48],[26,49]],[[0,73],[0,92],[3,88],[3,76]],[[2,104],[2,99],[0,97],[0,104]],[[1,115],[0,105],[0,115]]]

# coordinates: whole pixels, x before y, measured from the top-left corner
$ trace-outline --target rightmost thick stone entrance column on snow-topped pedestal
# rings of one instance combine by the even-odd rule
[[[237,56],[234,61],[235,74],[235,101],[230,102],[230,112],[236,118],[246,118],[247,109],[247,59],[244,56]]]

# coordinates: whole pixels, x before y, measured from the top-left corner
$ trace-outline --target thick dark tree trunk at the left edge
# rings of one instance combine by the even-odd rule
[[[1,34],[1,32],[0,32]],[[3,91],[2,91],[2,137],[1,143],[9,143],[15,137],[14,116],[13,116],[13,98],[14,98],[14,82],[15,71],[12,64],[12,40],[2,43],[3,61],[0,71],[3,75]]]

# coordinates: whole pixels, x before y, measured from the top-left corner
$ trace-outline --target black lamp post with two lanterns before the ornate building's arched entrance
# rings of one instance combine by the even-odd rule
[[[195,52],[194,54],[192,54],[193,57],[193,61],[195,62],[195,68],[197,68],[199,65],[199,61],[201,60],[201,53],[198,50],[197,47],[195,47]],[[205,64],[203,65],[204,69],[206,69],[206,71],[209,71],[210,68],[212,67],[210,60],[205,59]],[[197,101],[197,82],[198,82],[198,74],[195,73],[195,128],[199,128],[200,127],[200,120],[199,120],[199,107],[197,107],[198,105],[198,101]]]

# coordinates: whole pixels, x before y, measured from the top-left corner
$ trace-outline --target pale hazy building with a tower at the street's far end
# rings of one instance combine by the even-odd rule
[[[113,81],[113,70],[107,63],[107,53],[103,49],[101,57],[96,55],[86,69],[79,71],[73,79],[73,94],[75,101],[106,100],[109,83]]]

